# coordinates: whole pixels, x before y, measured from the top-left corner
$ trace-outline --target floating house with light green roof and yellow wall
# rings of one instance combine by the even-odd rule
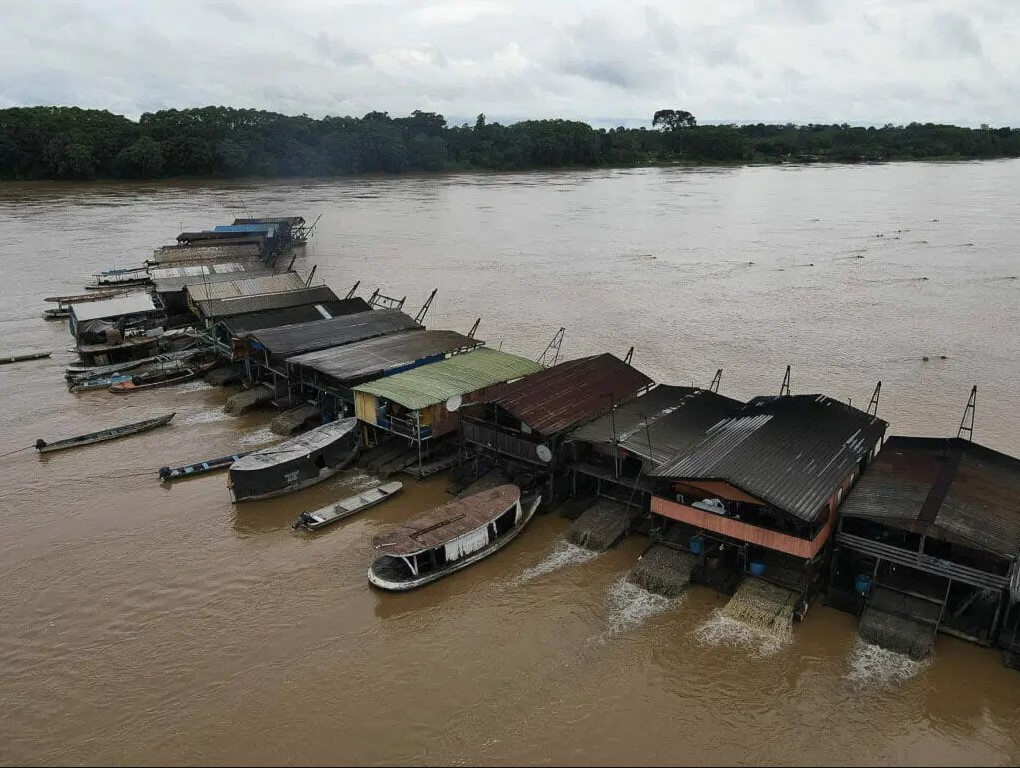
[[[540,370],[533,360],[482,347],[358,385],[355,413],[372,427],[408,439],[420,456],[437,438],[456,430],[460,405],[492,398],[507,381]]]

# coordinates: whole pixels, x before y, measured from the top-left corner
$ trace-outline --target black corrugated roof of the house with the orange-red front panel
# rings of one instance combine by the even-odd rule
[[[886,426],[824,395],[758,397],[652,474],[725,480],[813,522]]]

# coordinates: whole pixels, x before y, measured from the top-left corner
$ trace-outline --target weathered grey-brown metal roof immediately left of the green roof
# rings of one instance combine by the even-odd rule
[[[479,345],[478,340],[456,330],[410,330],[297,355],[288,358],[287,364],[304,366],[346,385],[382,375],[417,360]]]

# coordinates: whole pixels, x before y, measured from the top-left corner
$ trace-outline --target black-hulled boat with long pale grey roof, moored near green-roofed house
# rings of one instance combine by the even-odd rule
[[[330,421],[245,456],[227,471],[231,499],[235,503],[269,499],[332,477],[357,456],[357,427],[353,417]]]

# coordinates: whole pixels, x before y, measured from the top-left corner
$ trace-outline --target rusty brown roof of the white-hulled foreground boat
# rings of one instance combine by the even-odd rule
[[[379,533],[372,540],[372,547],[387,555],[403,557],[435,549],[488,525],[518,499],[520,489],[516,485],[497,485],[456,499]]]

